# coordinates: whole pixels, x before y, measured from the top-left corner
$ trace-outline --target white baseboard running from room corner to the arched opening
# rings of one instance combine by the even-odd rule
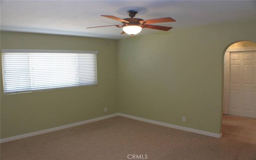
[[[218,134],[218,133],[212,133],[212,132],[197,130],[197,129],[188,128],[188,127],[182,127],[182,126],[179,126],[179,125],[168,124],[168,123],[163,123],[163,122],[154,121],[154,120],[150,120],[150,119],[145,119],[145,118],[140,118],[140,117],[136,117],[136,116],[126,115],[126,114],[123,114],[123,113],[118,113],[118,116],[123,116],[123,117],[131,118],[131,119],[135,119],[135,120],[138,120],[138,121],[143,121],[143,122],[157,124],[157,125],[161,125],[161,126],[165,126],[165,127],[170,127],[170,128],[174,128],[174,129],[178,129],[178,130],[182,130],[182,131],[202,134],[202,135],[205,135],[205,136],[210,136],[210,137],[215,137],[215,138],[221,138],[222,137],[222,133]]]

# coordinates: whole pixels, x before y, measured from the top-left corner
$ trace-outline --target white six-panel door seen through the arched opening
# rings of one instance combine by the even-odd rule
[[[256,51],[230,52],[229,115],[256,118]]]

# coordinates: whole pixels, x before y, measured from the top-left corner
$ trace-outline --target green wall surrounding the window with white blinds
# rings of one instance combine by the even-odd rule
[[[95,86],[4,94],[1,73],[1,139],[116,113],[116,48],[109,39],[1,32],[1,49],[98,51]]]

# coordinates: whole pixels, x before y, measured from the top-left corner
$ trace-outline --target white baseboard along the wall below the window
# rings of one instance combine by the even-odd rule
[[[31,136],[36,136],[36,135],[44,134],[44,133],[48,133],[48,132],[58,131],[58,130],[61,130],[61,129],[75,127],[77,125],[87,124],[87,123],[91,123],[91,122],[95,122],[95,121],[100,121],[100,120],[115,117],[115,116],[118,116],[118,113],[114,113],[114,114],[111,114],[111,115],[102,116],[102,117],[98,117],[98,118],[88,119],[88,120],[85,120],[85,121],[76,122],[76,123],[72,123],[72,124],[62,125],[62,126],[59,126],[59,127],[49,128],[49,129],[45,129],[45,130],[41,130],[41,131],[36,131],[36,132],[21,134],[21,135],[17,135],[17,136],[13,136],[13,137],[3,138],[3,139],[0,140],[0,143],[12,141],[12,140],[18,140],[18,139],[21,139],[21,138],[26,138],[26,137],[31,137]]]

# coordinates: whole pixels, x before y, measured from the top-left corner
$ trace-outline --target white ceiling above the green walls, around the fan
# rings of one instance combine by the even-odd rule
[[[90,36],[111,39],[122,28],[86,27],[121,24],[100,15],[128,18],[127,10],[137,10],[144,20],[172,17],[177,22],[157,25],[173,28],[194,27],[256,17],[256,1],[2,1],[1,30]],[[144,28],[139,35],[164,32]]]

